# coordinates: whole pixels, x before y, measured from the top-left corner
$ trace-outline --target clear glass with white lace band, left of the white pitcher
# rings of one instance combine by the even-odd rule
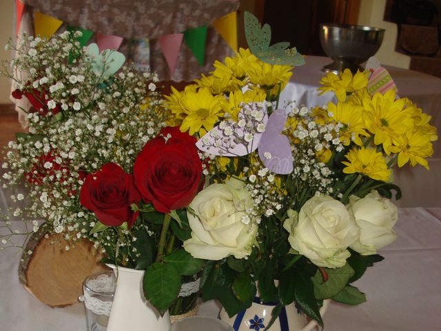
[[[115,294],[116,279],[113,271],[91,274],[83,281],[85,323],[88,331],[105,331]]]

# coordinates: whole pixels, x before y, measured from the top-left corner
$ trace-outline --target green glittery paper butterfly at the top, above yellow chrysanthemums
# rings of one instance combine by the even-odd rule
[[[264,24],[260,28],[258,19],[250,12],[245,12],[245,37],[251,52],[261,61],[283,66],[303,66],[305,59],[296,48],[289,48],[289,43],[281,42],[269,46],[271,28]]]

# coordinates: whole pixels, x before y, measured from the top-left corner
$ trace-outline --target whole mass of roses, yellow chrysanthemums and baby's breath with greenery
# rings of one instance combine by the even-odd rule
[[[274,303],[271,317],[249,321],[254,330],[294,302],[323,325],[323,300],[365,301],[351,283],[396,238],[391,169],[428,168],[436,132],[393,90],[370,94],[369,72],[327,74],[320,89],[336,103],[279,105],[303,59],[269,47],[253,24],[258,46],[165,101],[154,74],[116,73],[116,52],[80,48],[75,34],[23,39],[12,66],[28,77],[14,97],[34,108],[30,133],[10,143],[3,185],[30,188],[15,216],[145,270],[145,298],[160,312],[197,274],[202,299],[229,316],[257,293]]]

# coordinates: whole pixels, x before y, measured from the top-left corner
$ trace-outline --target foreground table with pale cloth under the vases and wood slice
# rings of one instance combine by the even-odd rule
[[[331,303],[326,331],[440,330],[441,325],[441,208],[402,208],[396,225],[398,239],[380,254],[386,259],[367,270],[356,285],[367,303]],[[20,255],[0,252],[0,330],[85,330],[82,304],[49,308],[20,284]],[[215,316],[214,302],[200,313]]]

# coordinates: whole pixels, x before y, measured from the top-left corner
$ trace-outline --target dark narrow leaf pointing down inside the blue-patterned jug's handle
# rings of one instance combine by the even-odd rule
[[[295,272],[293,274],[293,281],[294,297],[300,309],[311,319],[315,319],[320,326],[323,326],[317,299],[314,297],[314,285],[311,279],[307,278],[302,272]]]

